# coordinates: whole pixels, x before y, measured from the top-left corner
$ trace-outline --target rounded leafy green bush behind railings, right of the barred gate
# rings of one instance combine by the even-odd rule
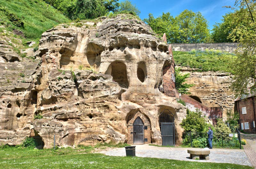
[[[187,109],[186,118],[182,120],[180,126],[185,130],[185,132],[202,132],[206,124],[207,123],[202,116],[202,112],[199,109],[196,109],[195,112]]]

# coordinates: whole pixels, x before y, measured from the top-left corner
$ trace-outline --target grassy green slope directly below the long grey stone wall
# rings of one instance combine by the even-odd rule
[[[175,64],[185,67],[198,68],[201,72],[222,71],[231,72],[230,67],[235,54],[215,50],[192,50],[190,52],[173,51]]]

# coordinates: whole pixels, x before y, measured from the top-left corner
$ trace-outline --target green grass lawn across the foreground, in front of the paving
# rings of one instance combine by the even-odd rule
[[[104,148],[104,145],[96,147]],[[227,163],[114,157],[88,153],[93,152],[94,148],[80,146],[79,148],[61,148],[54,151],[53,149],[4,147],[0,148],[0,168],[252,168]]]

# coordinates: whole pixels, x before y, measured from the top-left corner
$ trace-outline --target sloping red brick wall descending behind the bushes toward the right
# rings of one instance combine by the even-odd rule
[[[185,103],[192,104],[197,109],[200,109],[207,118],[212,120],[214,125],[217,123],[217,118],[222,117],[221,107],[207,107],[204,104],[197,102],[195,99],[189,97],[188,95],[181,95],[181,99]]]

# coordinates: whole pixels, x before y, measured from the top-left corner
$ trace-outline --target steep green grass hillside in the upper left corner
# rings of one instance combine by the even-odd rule
[[[13,25],[6,15],[6,10],[9,13],[16,14],[24,22],[24,26],[18,27]],[[43,0],[0,0],[1,29],[7,28],[9,31],[13,29],[22,31],[25,35],[24,41],[38,41],[46,30],[69,21],[67,17],[46,4]],[[3,28],[3,25],[5,28]]]

